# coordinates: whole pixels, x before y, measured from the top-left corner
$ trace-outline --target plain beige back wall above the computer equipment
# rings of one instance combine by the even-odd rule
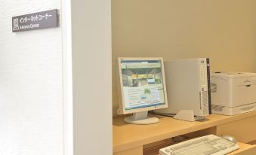
[[[116,58],[209,57],[211,71],[256,72],[255,0],[112,0],[113,115]]]

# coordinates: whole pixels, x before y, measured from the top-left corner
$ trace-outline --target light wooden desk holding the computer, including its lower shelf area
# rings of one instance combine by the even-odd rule
[[[157,154],[157,147],[171,144],[171,138],[177,135],[233,135],[241,149],[233,154],[248,154],[256,146],[243,144],[256,140],[256,111],[224,116],[211,114],[206,120],[187,122],[171,117],[159,117],[159,123],[152,125],[134,125],[123,122],[123,117],[113,120],[113,153],[115,155]],[[156,149],[157,148],[157,149]],[[230,153],[232,154],[232,153]]]

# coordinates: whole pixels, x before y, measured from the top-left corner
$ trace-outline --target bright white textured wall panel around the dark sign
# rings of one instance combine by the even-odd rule
[[[11,32],[11,17],[60,0],[0,0],[0,154],[63,154],[61,29]]]

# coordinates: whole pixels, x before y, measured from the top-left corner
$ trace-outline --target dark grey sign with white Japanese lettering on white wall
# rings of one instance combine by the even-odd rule
[[[12,32],[57,27],[57,9],[12,17]]]

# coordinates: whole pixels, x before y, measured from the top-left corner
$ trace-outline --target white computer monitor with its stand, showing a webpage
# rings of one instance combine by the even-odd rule
[[[157,123],[147,113],[168,107],[163,59],[118,58],[118,71],[118,114],[131,114],[126,123]]]

